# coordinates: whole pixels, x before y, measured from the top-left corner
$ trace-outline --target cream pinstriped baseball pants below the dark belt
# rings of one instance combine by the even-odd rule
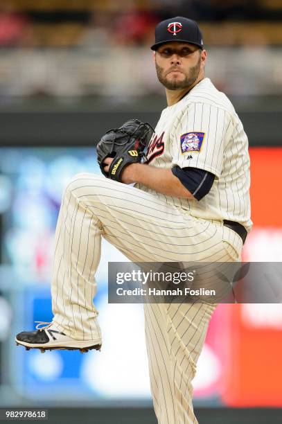
[[[188,213],[138,188],[92,174],[67,186],[55,232],[53,321],[70,337],[100,340],[93,304],[104,237],[136,262],[239,260],[232,230]],[[197,423],[191,380],[215,306],[146,303],[150,386],[159,424]]]

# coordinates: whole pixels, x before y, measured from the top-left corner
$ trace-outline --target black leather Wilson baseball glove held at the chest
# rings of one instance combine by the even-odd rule
[[[97,145],[98,164],[105,177],[121,182],[121,173],[125,166],[141,162],[145,156],[144,150],[152,137],[154,130],[149,123],[139,119],[130,119],[121,127],[109,130]],[[107,157],[114,160],[105,173],[103,162]]]

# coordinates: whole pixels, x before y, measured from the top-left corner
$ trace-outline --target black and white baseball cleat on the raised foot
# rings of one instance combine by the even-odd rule
[[[102,346],[102,340],[76,340],[62,333],[62,331],[56,328],[53,322],[38,322],[36,330],[34,331],[22,331],[15,337],[16,344],[25,346],[26,350],[29,351],[31,348],[37,348],[44,353],[45,351],[53,351],[55,349],[62,350],[79,350],[81,353],[88,352],[92,349],[100,351]],[[46,326],[39,328],[43,324]]]

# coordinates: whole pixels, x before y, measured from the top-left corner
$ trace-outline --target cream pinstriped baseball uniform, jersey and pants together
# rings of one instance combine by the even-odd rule
[[[58,218],[52,276],[53,321],[69,337],[101,337],[92,299],[102,237],[134,262],[240,260],[243,241],[223,220],[252,226],[247,137],[231,103],[208,78],[164,109],[148,161],[209,170],[215,182],[198,202],[88,173],[73,177]],[[197,423],[191,381],[214,309],[206,303],[144,305],[160,424]]]

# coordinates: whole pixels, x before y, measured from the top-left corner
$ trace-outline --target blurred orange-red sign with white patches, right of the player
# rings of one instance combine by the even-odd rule
[[[282,148],[251,148],[249,152],[254,229],[243,260],[281,261]],[[216,392],[225,404],[282,406],[281,304],[218,306],[206,344],[220,362]],[[195,393],[204,396],[209,391]]]

